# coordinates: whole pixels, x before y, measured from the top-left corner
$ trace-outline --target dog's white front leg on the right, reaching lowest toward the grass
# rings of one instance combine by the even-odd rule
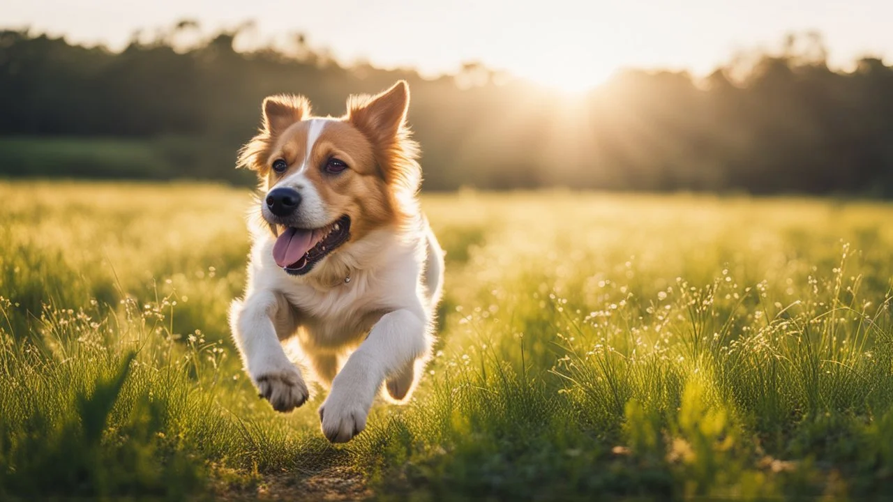
[[[424,356],[428,340],[420,314],[402,309],[382,315],[332,381],[329,397],[320,406],[322,433],[341,443],[363,431],[382,382]]]

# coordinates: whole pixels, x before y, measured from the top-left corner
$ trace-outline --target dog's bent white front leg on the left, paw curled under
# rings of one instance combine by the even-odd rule
[[[288,302],[269,290],[233,302],[230,328],[248,376],[273,409],[289,412],[310,396],[301,372],[288,360],[280,339],[294,334],[296,320]]]

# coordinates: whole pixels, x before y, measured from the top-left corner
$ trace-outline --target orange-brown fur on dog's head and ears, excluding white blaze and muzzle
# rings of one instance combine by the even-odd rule
[[[406,125],[408,106],[409,90],[403,80],[375,96],[350,96],[346,114],[330,123],[313,145],[311,165],[337,156],[350,167],[338,177],[326,178],[315,169],[307,176],[327,205],[355,222],[352,233],[357,239],[380,226],[411,228],[416,223],[421,167],[419,146]],[[306,121],[321,117],[311,114],[304,96],[269,96],[262,110],[262,127],[240,150],[238,165],[257,172],[260,188],[266,191],[300,166],[307,148]],[[271,164],[280,158],[289,167],[278,174]]]

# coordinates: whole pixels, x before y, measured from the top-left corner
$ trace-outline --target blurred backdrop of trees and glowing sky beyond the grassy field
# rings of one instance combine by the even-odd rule
[[[893,196],[893,4],[4,6],[0,175],[223,180],[264,96],[412,88],[424,188]],[[887,60],[885,60],[885,57]]]

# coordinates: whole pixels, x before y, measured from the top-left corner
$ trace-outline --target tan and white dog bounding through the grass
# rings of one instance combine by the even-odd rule
[[[400,80],[349,96],[333,118],[313,116],[304,96],[269,96],[261,129],[239,152],[261,195],[260,217],[249,218],[245,297],[230,307],[233,339],[280,412],[309,397],[282,347],[296,339],[329,389],[319,415],[332,442],[363,431],[379,393],[405,403],[430,357],[444,252],[419,206],[409,98]]]

